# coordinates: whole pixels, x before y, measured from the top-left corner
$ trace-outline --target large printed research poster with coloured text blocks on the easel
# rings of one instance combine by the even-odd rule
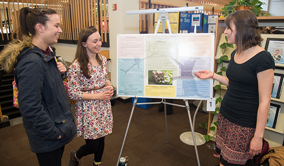
[[[207,100],[213,80],[194,72],[213,65],[213,33],[118,35],[117,95]]]

